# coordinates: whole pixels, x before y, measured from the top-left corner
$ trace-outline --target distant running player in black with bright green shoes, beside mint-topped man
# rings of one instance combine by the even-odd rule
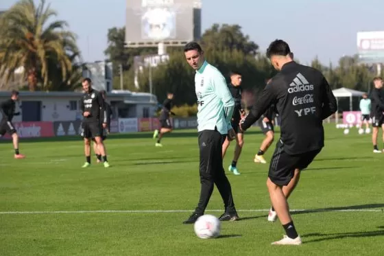
[[[154,130],[154,139],[157,138],[155,143],[156,147],[163,147],[161,144],[161,138],[163,138],[164,134],[167,132],[172,132],[172,124],[171,124],[171,115],[175,115],[171,108],[173,106],[173,93],[167,93],[167,99],[163,102],[163,108],[160,111],[160,117],[158,117],[158,121],[160,123],[160,131]]]

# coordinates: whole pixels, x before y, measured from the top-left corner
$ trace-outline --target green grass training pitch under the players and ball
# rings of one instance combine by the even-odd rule
[[[77,137],[21,141],[21,160],[0,143],[0,255],[384,255],[384,154],[372,153],[370,135],[326,127],[326,148],[289,198],[302,246],[270,245],[284,230],[266,219],[268,165],[252,161],[262,139],[258,128],[245,134],[241,175],[226,171],[242,220],[223,222],[215,240],[182,224],[200,192],[195,130],[163,148],[149,133],[111,136],[110,168],[94,158],[80,168]],[[206,213],[222,212],[215,189]]]

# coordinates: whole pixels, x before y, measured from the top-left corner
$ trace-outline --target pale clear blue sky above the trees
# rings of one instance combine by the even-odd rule
[[[38,2],[38,0],[35,0]],[[0,10],[15,0],[0,0]],[[77,34],[87,62],[104,60],[110,27],[125,25],[125,0],[47,0]],[[286,40],[303,64],[315,56],[336,64],[357,51],[359,31],[384,30],[384,0],[202,0],[202,29],[239,24],[261,50]]]

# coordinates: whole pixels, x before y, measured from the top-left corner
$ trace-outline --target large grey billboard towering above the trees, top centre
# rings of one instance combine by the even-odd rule
[[[200,38],[200,0],[127,0],[127,47],[184,45]]]

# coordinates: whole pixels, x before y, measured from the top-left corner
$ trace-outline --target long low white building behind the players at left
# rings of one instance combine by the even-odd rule
[[[20,102],[12,121],[75,121],[82,119],[80,92],[20,91]],[[0,102],[10,98],[10,91],[0,91]],[[158,107],[156,95],[131,91],[110,91],[106,101],[110,103],[113,118],[153,117]],[[1,114],[0,114],[1,116]]]

